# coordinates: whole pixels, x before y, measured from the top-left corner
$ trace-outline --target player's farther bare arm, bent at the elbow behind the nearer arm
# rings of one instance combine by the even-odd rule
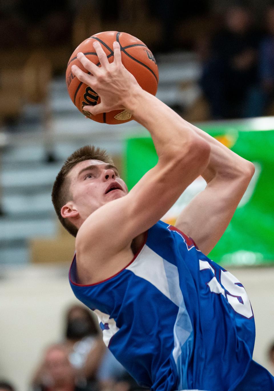
[[[188,122],[186,122],[188,124]],[[210,160],[202,173],[207,186],[179,215],[176,227],[208,254],[226,230],[254,174],[254,165],[201,129],[188,124],[210,144]]]

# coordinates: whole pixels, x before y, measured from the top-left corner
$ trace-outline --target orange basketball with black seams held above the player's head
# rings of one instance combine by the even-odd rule
[[[135,38],[126,32],[105,31],[99,32],[83,41],[74,50],[70,57],[70,61],[68,61],[66,85],[72,102],[81,113],[94,121],[111,125],[131,121],[133,118],[131,117],[131,113],[127,110],[115,110],[97,115],[91,115],[83,110],[84,106],[95,106],[97,103],[100,103],[100,97],[92,88],[80,82],[77,77],[72,74],[71,67],[72,65],[77,65],[84,72],[88,72],[76,57],[79,52],[84,53],[90,61],[97,66],[100,66],[97,54],[92,45],[95,39],[101,43],[110,63],[113,62],[113,42],[118,41],[121,46],[122,63],[125,68],[134,75],[143,90],[153,95],[156,95],[159,79],[158,66],[155,58],[149,48],[147,48],[140,39]]]

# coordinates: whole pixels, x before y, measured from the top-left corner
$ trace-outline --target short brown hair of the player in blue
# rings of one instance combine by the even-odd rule
[[[52,203],[61,224],[74,237],[77,235],[78,228],[68,221],[68,219],[64,219],[64,217],[62,217],[61,208],[70,200],[70,197],[72,197],[72,194],[70,193],[70,182],[67,178],[68,173],[72,167],[84,160],[101,160],[105,163],[113,164],[113,160],[107,154],[105,149],[95,147],[94,145],[85,145],[73,152],[64,162],[61,170],[59,171],[52,188]]]

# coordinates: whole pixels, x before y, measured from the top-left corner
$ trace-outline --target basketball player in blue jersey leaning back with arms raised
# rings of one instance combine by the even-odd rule
[[[72,67],[101,98],[84,110],[129,110],[150,132],[159,160],[130,192],[100,149],[83,147],[64,163],[52,200],[76,236],[73,292],[97,314],[111,352],[145,387],[273,390],[274,378],[252,360],[255,328],[245,289],[206,256],[226,230],[253,164],[143,91],[122,65],[118,43],[111,64],[100,44],[93,46],[102,66],[79,53],[90,74]],[[207,187],[176,226],[159,221],[199,175]]]

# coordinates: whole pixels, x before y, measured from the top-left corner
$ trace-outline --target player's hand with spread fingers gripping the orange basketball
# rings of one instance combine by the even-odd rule
[[[99,42],[93,42],[93,47],[100,61],[100,67],[93,64],[81,52],[78,53],[77,58],[90,74],[83,72],[77,65],[72,66],[72,73],[77,79],[96,91],[101,100],[96,106],[84,106],[83,110],[96,115],[127,109],[127,102],[132,99],[134,91],[141,87],[122,64],[120,44],[113,42],[113,63],[109,63]]]

